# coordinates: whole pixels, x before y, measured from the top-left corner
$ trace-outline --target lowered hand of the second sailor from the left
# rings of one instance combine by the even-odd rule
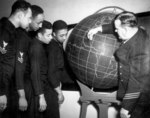
[[[19,110],[26,111],[28,103],[25,97],[19,97]]]

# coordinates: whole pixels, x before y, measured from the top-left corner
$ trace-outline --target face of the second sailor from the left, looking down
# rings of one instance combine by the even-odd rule
[[[38,14],[35,18],[32,18],[32,22],[30,23],[30,28],[33,31],[37,31],[42,27],[42,23],[44,20],[44,14]]]

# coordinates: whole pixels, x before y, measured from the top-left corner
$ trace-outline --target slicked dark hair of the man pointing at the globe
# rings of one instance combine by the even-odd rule
[[[137,17],[133,12],[124,11],[115,20],[117,19],[121,21],[121,25],[128,25],[129,27],[136,27],[138,25]]]

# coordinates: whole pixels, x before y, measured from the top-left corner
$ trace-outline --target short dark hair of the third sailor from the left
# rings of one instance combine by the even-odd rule
[[[37,32],[43,34],[46,29],[52,29],[52,24],[49,21],[44,20],[42,27]]]

